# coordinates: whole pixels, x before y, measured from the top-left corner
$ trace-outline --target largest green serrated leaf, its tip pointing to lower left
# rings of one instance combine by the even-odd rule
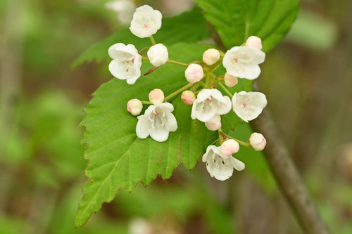
[[[170,58],[189,63],[200,60],[208,46],[175,44],[169,46]],[[142,74],[151,65],[142,65]],[[147,185],[158,174],[166,179],[181,162],[191,169],[203,155],[206,146],[216,138],[216,133],[203,123],[190,118],[191,106],[180,98],[172,104],[178,129],[171,132],[168,141],[158,143],[151,138],[139,139],[135,133],[137,118],[126,110],[131,98],[147,100],[151,89],[163,89],[165,95],[186,84],[184,67],[166,64],[141,77],[133,86],[125,81],[111,79],[103,84],[85,109],[86,127],[82,143],[88,148],[84,158],[89,160],[85,171],[89,181],[84,186],[84,197],[75,217],[75,226],[83,226],[103,202],[110,202],[121,188],[133,190],[141,181]]]

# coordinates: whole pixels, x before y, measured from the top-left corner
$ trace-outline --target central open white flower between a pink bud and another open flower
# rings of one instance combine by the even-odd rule
[[[228,96],[222,96],[218,89],[203,89],[194,100],[191,118],[208,122],[215,115],[225,115],[230,110],[231,100]]]

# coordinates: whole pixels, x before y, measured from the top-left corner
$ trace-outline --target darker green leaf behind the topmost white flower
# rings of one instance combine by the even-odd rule
[[[163,18],[161,30],[154,35],[156,43],[162,42],[165,45],[172,45],[177,42],[193,43],[202,41],[210,37],[210,32],[199,8],[193,8],[191,11],[184,12],[180,15]],[[108,48],[115,43],[138,44],[139,48],[151,46],[149,38],[141,39],[134,36],[128,28],[118,30],[111,36],[97,42],[84,51],[82,55],[73,62],[72,67],[77,67],[86,62],[101,62],[108,59]]]

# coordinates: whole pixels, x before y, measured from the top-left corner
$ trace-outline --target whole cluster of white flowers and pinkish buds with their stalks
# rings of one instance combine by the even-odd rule
[[[153,39],[161,28],[162,15],[151,6],[141,6],[136,9],[130,23],[130,31],[137,37],[149,37],[153,46],[146,55],[137,51],[132,44],[114,44],[108,49],[112,61],[109,70],[114,77],[125,79],[127,84],[134,84],[141,77],[142,60],[149,60],[153,67],[149,72],[165,63],[173,63],[187,67],[184,71],[185,86],[164,96],[161,89],[153,89],[149,93],[149,101],[132,99],[127,103],[127,111],[138,116],[136,134],[138,138],[150,136],[153,140],[164,142],[168,140],[170,131],[177,131],[177,119],[172,114],[174,107],[169,102],[171,98],[180,95],[185,105],[192,105],[191,119],[204,122],[210,131],[218,131],[217,145],[208,145],[202,161],[211,177],[224,181],[232,176],[234,169],[241,171],[245,165],[233,155],[239,152],[239,145],[254,150],[263,150],[266,140],[262,134],[251,134],[249,141],[239,141],[222,131],[222,115],[233,111],[244,122],[256,119],[267,105],[266,97],[260,92],[231,92],[227,87],[236,86],[239,79],[256,79],[260,75],[259,64],[265,60],[261,51],[262,44],[258,37],[251,36],[241,46],[234,46],[223,53],[210,48],[203,53],[203,60],[192,63],[181,63],[169,59],[168,48],[156,44]],[[223,65],[226,73],[220,77],[214,71]],[[223,95],[218,87],[227,93]],[[149,105],[143,110],[143,105]]]

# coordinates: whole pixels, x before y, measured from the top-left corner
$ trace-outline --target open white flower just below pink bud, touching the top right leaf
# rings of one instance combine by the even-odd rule
[[[260,74],[258,64],[265,60],[265,53],[253,46],[234,46],[225,53],[222,65],[234,77],[256,79]]]

